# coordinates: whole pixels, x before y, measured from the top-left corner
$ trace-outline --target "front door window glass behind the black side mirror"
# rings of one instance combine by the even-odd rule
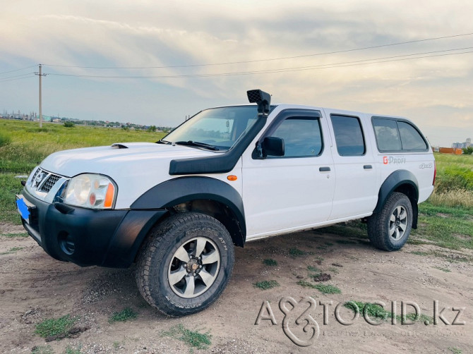
[[[271,136],[284,140],[285,157],[310,157],[322,152],[322,134],[318,118],[287,118]]]

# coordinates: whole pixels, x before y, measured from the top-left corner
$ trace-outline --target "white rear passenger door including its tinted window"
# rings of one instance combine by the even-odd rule
[[[334,138],[335,193],[330,220],[366,216],[378,197],[376,165],[371,144],[366,143],[369,126],[364,116],[325,111]],[[369,123],[369,122],[368,122]]]

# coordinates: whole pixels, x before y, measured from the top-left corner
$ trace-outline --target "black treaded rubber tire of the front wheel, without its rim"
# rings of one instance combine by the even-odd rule
[[[194,298],[183,298],[173,290],[168,271],[176,252],[181,246],[192,243],[193,238],[210,240],[208,245],[220,252],[220,263],[213,283],[205,292]],[[220,221],[196,212],[175,214],[148,234],[138,257],[136,283],[143,298],[165,315],[191,315],[217,300],[232,275],[233,264],[232,238]]]

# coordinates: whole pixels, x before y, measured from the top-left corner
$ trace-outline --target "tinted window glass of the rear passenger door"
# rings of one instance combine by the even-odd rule
[[[360,156],[365,152],[363,131],[356,117],[330,116],[340,156]]]

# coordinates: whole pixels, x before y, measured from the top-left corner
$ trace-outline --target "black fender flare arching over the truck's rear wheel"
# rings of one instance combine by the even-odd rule
[[[417,228],[417,219],[419,214],[419,207],[417,205],[419,200],[419,183],[417,182],[414,173],[407,170],[394,171],[385,179],[379,189],[378,203],[376,204],[373,214],[381,212],[383,205],[393,192],[407,195],[412,205],[412,228]]]

